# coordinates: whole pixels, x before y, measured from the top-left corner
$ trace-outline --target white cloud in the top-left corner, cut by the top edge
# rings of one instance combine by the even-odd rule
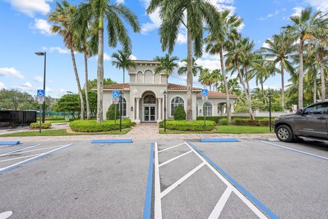
[[[46,14],[50,12],[49,1],[51,0],[8,0],[12,8],[33,17],[34,14]]]

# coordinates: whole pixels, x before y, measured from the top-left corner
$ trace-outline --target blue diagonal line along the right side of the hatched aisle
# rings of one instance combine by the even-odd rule
[[[268,207],[266,207],[263,203],[261,203],[258,198],[256,198],[255,196],[253,196],[252,194],[250,194],[245,188],[243,188],[243,186],[241,186],[239,183],[237,183],[236,180],[234,180],[232,177],[230,177],[230,175],[228,175],[228,173],[224,172],[224,170],[222,170],[221,168],[219,168],[219,166],[217,166],[217,164],[215,164],[215,162],[212,161],[212,159],[210,159],[209,157],[207,157],[204,153],[202,153],[200,150],[198,150],[196,148],[195,145],[193,145],[191,142],[188,142],[188,144],[195,150],[197,151],[197,153],[199,153],[202,157],[204,157],[204,159],[206,159],[206,161],[215,168],[215,170],[217,170],[221,175],[223,175],[223,177],[225,177],[228,181],[230,181],[230,183],[232,183],[232,185],[234,185],[234,187],[239,190],[239,192],[243,193],[247,198],[249,198],[249,200],[254,203],[255,205],[257,205],[265,214],[267,214],[267,216],[269,216],[270,218],[273,219],[279,219],[279,217],[277,215],[275,215],[272,211],[270,211],[270,209]]]

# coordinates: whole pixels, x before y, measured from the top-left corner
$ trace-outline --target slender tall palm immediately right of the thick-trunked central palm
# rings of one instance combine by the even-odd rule
[[[226,91],[226,102],[227,102],[227,120],[231,123],[231,107],[230,107],[230,96],[228,90],[228,81],[226,77],[226,67],[224,66],[223,60],[223,46],[230,34],[235,34],[236,29],[241,26],[243,20],[236,15],[231,15],[229,10],[224,10],[219,13],[217,20],[219,25],[216,27],[208,28],[209,35],[205,38],[206,51],[210,54],[220,55],[221,72],[223,77],[223,85]]]

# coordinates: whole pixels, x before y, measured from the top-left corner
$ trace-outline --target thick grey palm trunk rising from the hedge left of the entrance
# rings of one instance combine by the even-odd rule
[[[103,100],[104,100],[104,29],[100,22],[98,27],[98,69],[97,69],[97,123],[104,120]]]

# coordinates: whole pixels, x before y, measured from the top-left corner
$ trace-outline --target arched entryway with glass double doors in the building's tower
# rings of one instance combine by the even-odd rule
[[[146,92],[141,99],[141,122],[154,123],[157,119],[156,96],[153,92]]]

